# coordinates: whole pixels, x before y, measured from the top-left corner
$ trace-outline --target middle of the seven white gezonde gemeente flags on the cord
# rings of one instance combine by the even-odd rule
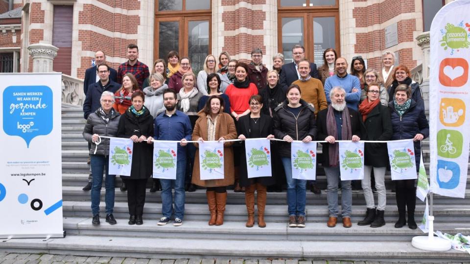
[[[272,176],[269,139],[247,138],[245,140],[245,154],[248,178]]]

